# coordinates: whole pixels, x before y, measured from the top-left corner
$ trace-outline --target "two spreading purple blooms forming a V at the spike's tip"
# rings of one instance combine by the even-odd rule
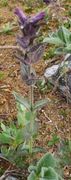
[[[30,43],[30,40],[36,36],[37,31],[40,28],[40,22],[44,19],[45,12],[40,12],[33,17],[28,17],[22,10],[16,8],[15,14],[19,17],[19,24],[23,32],[23,41],[28,39]]]

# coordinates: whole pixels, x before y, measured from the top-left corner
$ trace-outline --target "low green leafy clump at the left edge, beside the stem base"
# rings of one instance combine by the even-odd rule
[[[26,155],[29,154],[29,141],[31,136],[34,136],[35,129],[32,132],[30,131],[29,124],[25,126],[15,125],[13,122],[9,126],[5,126],[1,123],[0,132],[0,146],[1,146],[1,155],[6,157],[12,163],[17,164],[17,166],[24,165],[22,161],[25,160]],[[33,152],[37,152],[39,149],[34,149]],[[40,149],[41,151],[41,149]]]

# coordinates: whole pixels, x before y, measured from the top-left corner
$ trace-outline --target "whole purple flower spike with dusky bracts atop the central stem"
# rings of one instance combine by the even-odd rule
[[[30,73],[30,65],[37,63],[42,58],[45,48],[44,44],[37,44],[34,41],[37,38],[41,22],[45,18],[45,12],[28,17],[19,8],[16,8],[15,14],[19,17],[19,25],[22,31],[22,35],[17,36],[19,50],[16,57],[21,64],[22,78],[27,85],[32,85],[36,82],[36,76],[33,72]]]

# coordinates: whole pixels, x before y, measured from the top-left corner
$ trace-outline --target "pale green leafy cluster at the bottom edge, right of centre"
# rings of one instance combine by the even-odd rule
[[[61,180],[57,173],[57,161],[51,153],[46,153],[36,166],[30,166],[28,180]]]

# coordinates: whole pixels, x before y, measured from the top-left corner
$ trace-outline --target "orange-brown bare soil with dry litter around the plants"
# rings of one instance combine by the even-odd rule
[[[17,18],[14,15],[14,9],[17,6],[29,11],[21,0],[10,0],[7,6],[0,4],[0,27],[3,27],[7,22],[17,24]],[[34,12],[33,10],[33,13]],[[55,26],[54,22],[51,22],[50,29],[54,29]],[[18,29],[16,29],[14,25],[11,34],[0,34],[0,45],[15,45],[17,34]],[[17,116],[15,99],[12,94],[13,91],[23,96],[28,96],[29,91],[28,86],[26,86],[21,78],[20,64],[16,60],[14,53],[15,50],[0,50],[0,71],[3,73],[3,78],[0,80],[0,119],[4,122],[15,120]],[[61,57],[59,58],[61,61]],[[39,76],[43,75],[47,66],[46,61],[42,59],[35,66],[36,73]],[[45,108],[38,112],[39,135],[36,143],[39,146],[45,147],[48,151],[55,152],[57,151],[58,145],[49,148],[48,142],[55,133],[60,139],[70,138],[71,105],[66,103],[66,100],[58,91],[52,93],[52,89],[41,93],[40,90],[35,87],[34,95],[35,100],[38,98],[50,98],[51,100]]]

